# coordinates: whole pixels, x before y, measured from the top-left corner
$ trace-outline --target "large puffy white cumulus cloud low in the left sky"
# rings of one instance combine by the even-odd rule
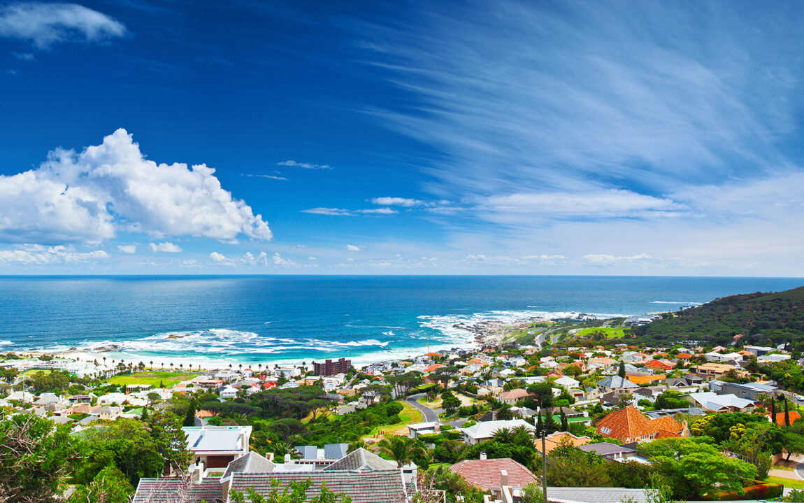
[[[119,129],[80,154],[54,150],[38,169],[0,175],[0,240],[102,241],[117,229],[161,237],[270,240],[243,200],[204,164],[157,164]]]

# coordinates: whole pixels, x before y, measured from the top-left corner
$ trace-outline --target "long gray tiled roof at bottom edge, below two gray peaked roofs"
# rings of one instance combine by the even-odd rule
[[[352,503],[396,503],[404,501],[404,482],[398,469],[377,472],[312,472],[312,473],[234,473],[230,489],[244,493],[253,488],[257,493],[267,495],[273,489],[271,480],[278,480],[285,487],[291,480],[312,482],[306,491],[306,501],[318,496],[322,482],[333,493],[344,493],[351,497]],[[250,503],[248,494],[245,501]]]

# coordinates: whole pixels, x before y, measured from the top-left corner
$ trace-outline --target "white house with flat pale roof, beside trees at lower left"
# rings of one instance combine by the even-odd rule
[[[230,461],[248,454],[252,427],[183,427],[187,450],[209,468],[224,468]]]

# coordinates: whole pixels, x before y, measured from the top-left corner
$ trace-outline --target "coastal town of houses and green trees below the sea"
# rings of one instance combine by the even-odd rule
[[[7,353],[0,439],[23,454],[0,454],[0,497],[801,501],[801,353],[756,332],[622,342],[674,316],[481,325],[472,347],[359,366]]]

